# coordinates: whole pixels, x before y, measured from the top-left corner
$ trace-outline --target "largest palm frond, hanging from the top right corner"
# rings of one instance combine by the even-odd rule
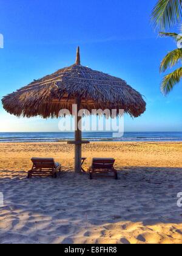
[[[181,21],[182,0],[158,0],[151,20],[155,29],[166,30]]]

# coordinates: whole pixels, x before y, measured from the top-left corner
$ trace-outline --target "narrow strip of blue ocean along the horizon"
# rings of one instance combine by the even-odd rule
[[[73,140],[73,132],[0,132],[2,142],[40,142]],[[112,132],[83,132],[89,141],[182,141],[182,132],[125,132],[113,137]]]

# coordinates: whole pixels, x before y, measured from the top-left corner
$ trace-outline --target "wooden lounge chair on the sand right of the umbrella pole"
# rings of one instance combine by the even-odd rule
[[[89,168],[90,179],[93,178],[93,174],[109,174],[113,173],[115,179],[118,179],[118,174],[113,165],[115,159],[113,158],[93,158],[92,166]]]

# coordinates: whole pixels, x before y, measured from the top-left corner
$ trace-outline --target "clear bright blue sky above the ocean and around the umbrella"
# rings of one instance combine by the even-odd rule
[[[182,131],[182,84],[160,92],[161,59],[176,48],[150,26],[156,0],[1,0],[0,98],[75,62],[121,77],[145,96],[140,118],[125,116],[126,131]],[[22,119],[0,104],[0,132],[57,131],[58,120]]]

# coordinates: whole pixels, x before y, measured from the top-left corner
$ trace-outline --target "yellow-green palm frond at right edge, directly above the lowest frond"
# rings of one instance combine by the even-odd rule
[[[172,68],[180,60],[182,60],[182,49],[175,49],[174,51],[169,52],[161,62],[160,72],[165,72],[167,68]]]

